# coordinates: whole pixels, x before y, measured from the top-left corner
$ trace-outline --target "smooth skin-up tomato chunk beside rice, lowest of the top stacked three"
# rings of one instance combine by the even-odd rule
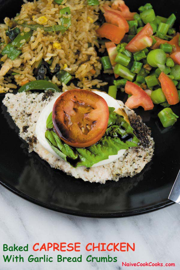
[[[110,39],[112,42],[119,44],[124,38],[125,29],[110,23],[103,23],[103,25],[96,30],[101,38]]]

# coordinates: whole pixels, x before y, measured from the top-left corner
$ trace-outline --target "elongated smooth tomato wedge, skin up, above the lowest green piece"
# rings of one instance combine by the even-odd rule
[[[167,99],[167,102],[170,105],[175,105],[179,103],[178,91],[172,79],[170,79],[166,74],[161,72],[161,74],[159,75],[159,81],[161,82],[161,88]]]

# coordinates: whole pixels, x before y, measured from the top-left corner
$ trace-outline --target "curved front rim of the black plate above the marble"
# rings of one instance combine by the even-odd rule
[[[15,187],[12,187],[8,184],[5,184],[4,182],[2,182],[2,180],[0,179],[0,184],[7,188],[7,190],[10,190],[12,193],[16,194],[17,196],[21,197],[22,199],[26,199],[29,202],[32,202],[36,205],[39,205],[41,207],[44,207],[46,209],[50,209],[59,213],[63,213],[63,214],[70,214],[70,215],[74,215],[74,216],[79,216],[79,217],[92,217],[92,218],[119,218],[119,217],[131,217],[131,216],[136,216],[136,215],[140,215],[140,214],[147,214],[147,213],[151,213],[153,211],[157,211],[160,210],[162,208],[165,208],[167,206],[173,205],[175,204],[175,202],[167,199],[167,201],[162,202],[160,204],[154,205],[154,206],[149,206],[146,208],[140,208],[137,210],[132,210],[132,211],[123,211],[123,212],[114,212],[114,213],[95,213],[95,212],[87,212],[87,211],[78,211],[78,210],[70,210],[67,208],[63,208],[63,207],[58,207],[55,205],[50,205],[48,203],[45,202],[41,202],[37,199],[33,199],[32,197],[26,195],[25,193],[19,191],[18,189],[16,189]]]

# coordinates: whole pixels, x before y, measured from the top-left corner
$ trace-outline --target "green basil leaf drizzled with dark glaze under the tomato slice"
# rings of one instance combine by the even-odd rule
[[[114,108],[109,107],[108,128],[98,143],[87,148],[74,148],[64,143],[53,131],[46,131],[46,139],[53,150],[73,167],[92,165],[106,160],[110,155],[117,155],[121,149],[140,146],[140,141],[133,133],[133,128],[124,120],[123,116],[114,113]],[[52,113],[49,115],[46,127],[51,128]],[[64,155],[65,157],[64,157]]]

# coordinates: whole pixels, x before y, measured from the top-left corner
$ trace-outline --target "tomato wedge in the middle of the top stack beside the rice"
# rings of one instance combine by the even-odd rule
[[[104,17],[106,19],[106,22],[125,29],[125,32],[127,33],[129,31],[129,25],[127,20],[121,15],[121,12],[112,9],[107,4],[105,4],[103,7],[105,10]]]

